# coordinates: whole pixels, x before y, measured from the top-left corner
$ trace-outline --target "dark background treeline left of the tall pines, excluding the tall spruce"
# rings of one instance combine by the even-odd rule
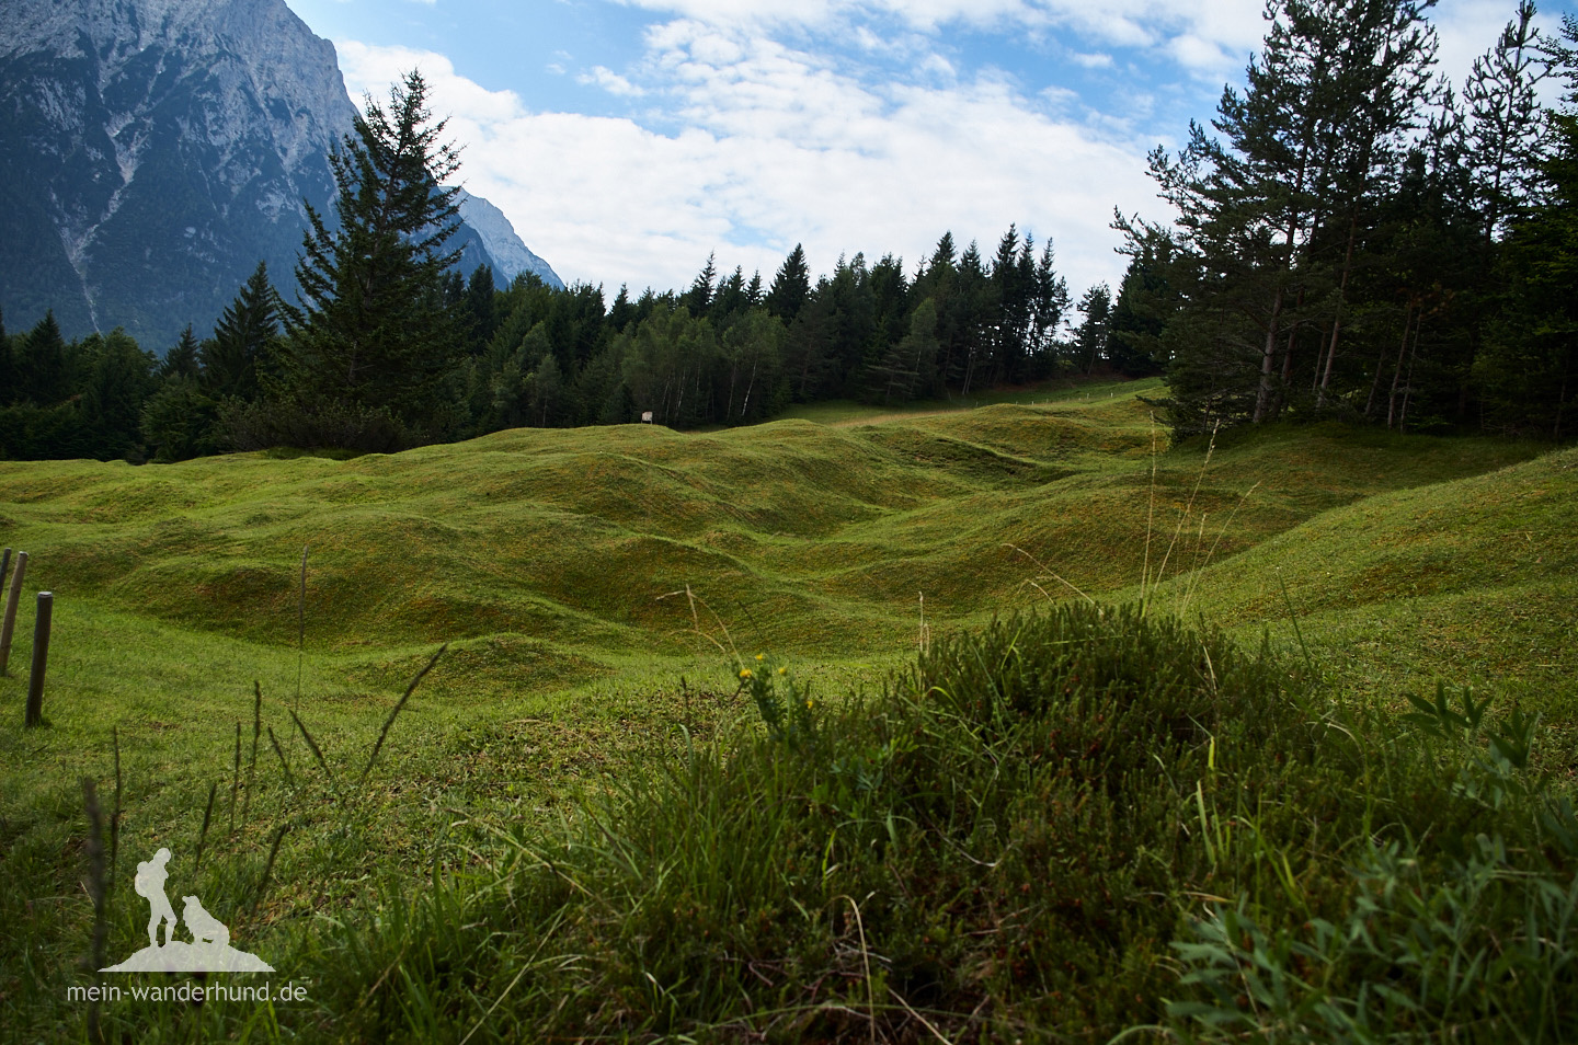
[[[443,273],[434,300],[450,350],[421,368],[368,352],[365,379],[311,355],[309,313],[281,300],[264,265],[208,338],[188,328],[163,358],[118,328],[68,343],[54,316],[16,336],[0,327],[0,458],[388,451],[645,412],[674,428],[746,425],[791,403],[901,404],[1127,366],[1108,352],[1106,287],[1084,295],[1070,330],[1051,249],[1015,227],[991,260],[944,235],[914,276],[857,254],[813,283],[797,246],[767,286],[740,268],[720,278],[709,259],[683,292],[622,287],[606,303],[601,287],[535,275],[497,289],[480,267]]]

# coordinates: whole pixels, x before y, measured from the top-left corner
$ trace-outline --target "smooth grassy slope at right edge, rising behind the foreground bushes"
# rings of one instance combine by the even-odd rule
[[[1403,693],[1427,693],[1441,677],[1499,693],[1545,717],[1550,764],[1572,778],[1575,510],[1578,451],[1561,450],[1332,508],[1150,598],[1247,642],[1270,630],[1294,647],[1297,620],[1311,657],[1368,702],[1401,707]],[[1180,541],[1187,556],[1193,543]]]

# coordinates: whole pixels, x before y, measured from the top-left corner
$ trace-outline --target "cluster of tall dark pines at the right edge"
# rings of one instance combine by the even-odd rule
[[[1573,433],[1578,21],[1532,0],[1461,92],[1431,0],[1270,0],[1243,92],[1150,174],[1179,219],[1117,216],[1120,360],[1182,433],[1278,417]],[[1564,84],[1542,107],[1542,82]],[[1546,84],[1551,87],[1553,84]]]

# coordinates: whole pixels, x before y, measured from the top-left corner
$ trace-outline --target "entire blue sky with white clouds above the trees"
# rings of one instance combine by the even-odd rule
[[[1053,243],[1116,287],[1114,210],[1166,219],[1146,155],[1207,123],[1261,0],[287,0],[353,101],[420,68],[461,180],[567,283],[683,289],[716,257],[770,281],[797,243],[989,254]],[[1554,30],[1575,0],[1548,2]],[[1515,0],[1439,0],[1461,84]]]

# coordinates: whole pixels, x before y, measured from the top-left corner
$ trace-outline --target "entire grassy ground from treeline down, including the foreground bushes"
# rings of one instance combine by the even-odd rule
[[[0,466],[0,1026],[1572,1039],[1578,450],[1155,395]]]

